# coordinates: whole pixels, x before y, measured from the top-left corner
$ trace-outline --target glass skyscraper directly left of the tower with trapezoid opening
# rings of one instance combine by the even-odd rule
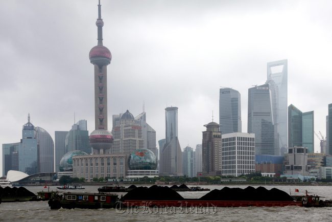
[[[248,132],[255,134],[255,152],[258,155],[279,154],[279,147],[275,146],[272,97],[269,83],[249,88]]]

